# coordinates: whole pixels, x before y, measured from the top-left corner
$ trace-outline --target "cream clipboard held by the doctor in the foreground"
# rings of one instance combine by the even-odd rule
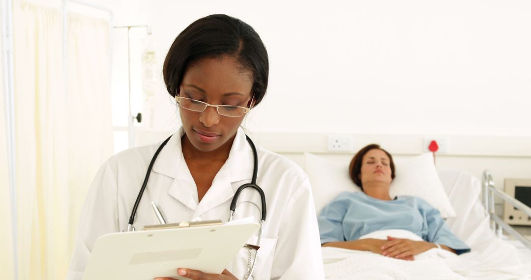
[[[155,277],[187,279],[177,268],[220,274],[260,225],[187,222],[145,226],[145,230],[117,232],[96,240],[82,280]]]

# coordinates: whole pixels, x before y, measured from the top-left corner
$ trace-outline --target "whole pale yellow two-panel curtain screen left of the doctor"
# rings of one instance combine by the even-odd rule
[[[20,280],[65,278],[90,177],[112,151],[108,23],[68,16],[64,69],[62,19],[54,8],[14,4]],[[104,42],[87,31],[98,26]]]

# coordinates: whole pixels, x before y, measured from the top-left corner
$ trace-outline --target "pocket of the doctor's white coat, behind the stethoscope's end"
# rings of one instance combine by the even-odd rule
[[[277,239],[262,237],[260,239],[260,249],[256,251],[258,257],[256,258],[256,264],[254,265],[253,276],[255,280],[259,279],[271,279],[271,269],[273,266],[273,257],[275,256],[275,247],[277,246]],[[257,237],[252,237],[247,240],[248,244],[256,244]],[[247,265],[249,263],[249,250],[247,248],[240,249],[234,263],[237,266],[237,274],[241,273],[242,275],[235,275],[238,278],[243,278],[247,273]],[[254,259],[254,250],[251,250],[251,263]]]

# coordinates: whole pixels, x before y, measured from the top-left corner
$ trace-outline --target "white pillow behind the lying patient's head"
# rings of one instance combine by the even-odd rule
[[[348,175],[348,163],[339,164],[304,153],[303,169],[312,185],[317,213],[343,191],[361,190]],[[430,153],[395,160],[395,179],[391,183],[390,195],[421,197],[439,209],[443,218],[456,216]]]

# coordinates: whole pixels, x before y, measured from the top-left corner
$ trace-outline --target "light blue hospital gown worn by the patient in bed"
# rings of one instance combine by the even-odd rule
[[[378,230],[407,230],[431,243],[444,244],[457,254],[470,248],[453,234],[438,209],[414,196],[381,200],[358,191],[344,192],[325,206],[318,217],[321,244],[357,240]]]

